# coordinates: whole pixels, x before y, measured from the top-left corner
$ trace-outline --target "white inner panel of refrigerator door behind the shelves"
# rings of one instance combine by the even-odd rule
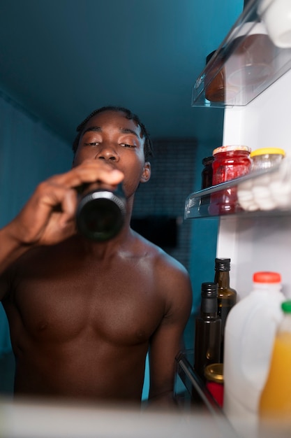
[[[291,71],[246,106],[225,108],[223,144],[283,148],[291,155]],[[214,110],[215,111],[215,110]],[[291,169],[290,169],[291,170]],[[230,257],[232,287],[248,295],[255,271],[278,271],[283,292],[291,298],[291,221],[288,216],[223,217],[218,257]]]

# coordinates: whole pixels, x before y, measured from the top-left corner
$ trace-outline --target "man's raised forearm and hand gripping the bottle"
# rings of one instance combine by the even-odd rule
[[[0,274],[32,246],[59,243],[75,233],[78,185],[101,181],[116,188],[122,179],[104,162],[86,160],[40,183],[22,211],[0,229]]]

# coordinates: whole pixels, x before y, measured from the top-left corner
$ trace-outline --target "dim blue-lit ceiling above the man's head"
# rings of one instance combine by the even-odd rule
[[[215,138],[223,111],[191,107],[209,52],[243,0],[0,0],[0,90],[71,143],[120,105],[153,137]]]

